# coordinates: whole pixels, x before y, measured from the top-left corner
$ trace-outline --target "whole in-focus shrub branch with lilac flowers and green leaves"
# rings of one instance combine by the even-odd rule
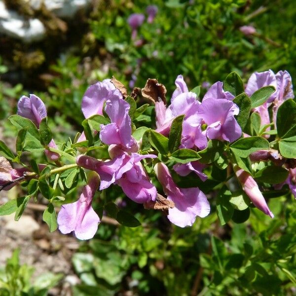
[[[175,84],[170,104],[156,79],[130,95],[114,77],[91,85],[81,103],[83,131],[64,143],[55,143],[41,99],[23,96],[17,115],[8,118],[18,130],[16,152],[0,141],[0,190],[20,183],[27,193],[2,205],[0,215],[15,212],[19,220],[40,193],[48,200],[43,220],[50,231],[90,239],[104,210],[123,225],[140,225],[131,213],[106,202],[106,189],[118,185],[132,201],[162,211],[180,227],[206,217],[211,204],[222,224],[248,220],[250,207],[273,218],[269,198],[289,191],[296,197],[290,74],[254,73],[244,87],[233,72],[202,99],[200,87],[189,91],[182,75]],[[37,163],[28,152],[44,152],[47,162]],[[67,203],[80,184],[77,201]],[[103,206],[95,211],[98,190]],[[208,200],[210,191],[217,197]],[[56,216],[54,205],[63,201]]]

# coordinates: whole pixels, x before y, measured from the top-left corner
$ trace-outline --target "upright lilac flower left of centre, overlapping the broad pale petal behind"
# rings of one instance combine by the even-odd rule
[[[106,102],[106,113],[111,123],[101,125],[100,139],[107,145],[115,144],[124,148],[136,146],[135,139],[131,136],[131,118],[128,114],[130,105],[116,96]]]

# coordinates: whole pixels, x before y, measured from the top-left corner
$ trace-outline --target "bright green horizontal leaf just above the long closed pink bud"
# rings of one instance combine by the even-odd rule
[[[230,149],[236,155],[245,158],[255,151],[269,149],[269,143],[262,137],[248,137],[237,140]]]

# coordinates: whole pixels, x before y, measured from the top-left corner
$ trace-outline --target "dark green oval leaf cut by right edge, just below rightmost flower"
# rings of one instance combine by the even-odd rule
[[[296,102],[286,100],[278,109],[276,127],[281,139],[296,136]]]

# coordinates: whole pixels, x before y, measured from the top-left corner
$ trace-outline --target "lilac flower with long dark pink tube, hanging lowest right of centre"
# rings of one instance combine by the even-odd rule
[[[199,188],[179,188],[173,181],[168,167],[159,162],[154,166],[158,181],[168,200],[175,203],[169,209],[168,219],[177,226],[191,226],[196,216],[206,217],[210,213],[210,204]]]

